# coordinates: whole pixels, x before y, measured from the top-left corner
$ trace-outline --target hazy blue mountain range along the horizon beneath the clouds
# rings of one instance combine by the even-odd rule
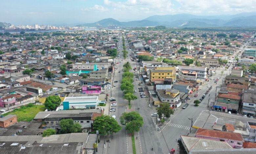
[[[107,18],[95,23],[76,25],[78,27],[255,27],[256,12],[239,13],[234,15],[153,15],[143,20],[119,22],[113,18]]]

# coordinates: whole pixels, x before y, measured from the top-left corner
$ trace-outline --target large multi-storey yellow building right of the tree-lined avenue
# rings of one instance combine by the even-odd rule
[[[172,78],[176,80],[176,71],[174,67],[157,67],[150,70],[150,79],[165,79]]]

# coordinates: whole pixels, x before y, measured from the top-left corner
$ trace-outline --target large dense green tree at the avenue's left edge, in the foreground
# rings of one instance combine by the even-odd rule
[[[94,133],[98,130],[99,134],[103,136],[117,133],[121,128],[122,127],[118,125],[117,121],[109,115],[98,116],[93,122]]]

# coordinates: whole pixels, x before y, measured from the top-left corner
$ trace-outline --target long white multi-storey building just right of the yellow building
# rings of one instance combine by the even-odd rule
[[[179,67],[179,79],[196,81],[206,79],[207,67],[197,66],[178,66]]]

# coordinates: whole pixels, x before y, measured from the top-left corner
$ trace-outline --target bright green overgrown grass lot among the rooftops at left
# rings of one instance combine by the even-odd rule
[[[21,106],[20,108],[15,108],[13,111],[3,114],[6,116],[8,114],[17,115],[17,120],[19,121],[27,121],[30,122],[34,119],[35,115],[40,112],[46,110],[44,105],[29,105],[29,106]]]

